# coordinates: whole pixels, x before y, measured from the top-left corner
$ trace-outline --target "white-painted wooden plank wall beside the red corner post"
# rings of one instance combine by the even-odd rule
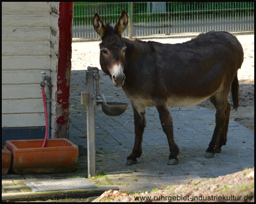
[[[59,2],[2,2],[2,128],[45,126],[41,71],[52,78],[54,110],[58,18]]]

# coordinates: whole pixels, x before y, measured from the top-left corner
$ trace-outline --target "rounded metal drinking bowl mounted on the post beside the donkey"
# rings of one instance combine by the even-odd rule
[[[108,116],[119,116],[125,112],[128,104],[118,102],[103,102],[101,104],[102,111]]]

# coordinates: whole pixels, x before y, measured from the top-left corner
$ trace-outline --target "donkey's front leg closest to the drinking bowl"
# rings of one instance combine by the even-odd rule
[[[126,165],[136,164],[137,158],[141,157],[142,154],[142,135],[144,132],[144,128],[146,126],[146,107],[143,105],[134,104],[134,126],[135,126],[135,142],[133,147],[133,152],[130,156],[127,157]]]

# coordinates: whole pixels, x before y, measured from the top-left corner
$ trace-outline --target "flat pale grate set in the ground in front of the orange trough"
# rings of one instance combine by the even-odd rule
[[[24,184],[30,187],[34,192],[42,192],[48,190],[97,188],[96,185],[92,184],[89,180],[85,178],[27,181],[24,182]]]

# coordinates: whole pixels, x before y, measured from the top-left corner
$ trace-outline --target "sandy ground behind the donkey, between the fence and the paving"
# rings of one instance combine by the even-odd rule
[[[241,42],[244,52],[242,67],[238,70],[240,107],[237,111],[231,112],[230,118],[254,131],[254,35],[237,35],[237,39]],[[150,40],[175,44],[191,40],[191,37]],[[88,66],[96,66],[100,69],[100,42],[73,42],[72,70],[86,70]],[[230,101],[232,101],[231,97]],[[200,106],[214,109],[209,100],[204,101]]]

